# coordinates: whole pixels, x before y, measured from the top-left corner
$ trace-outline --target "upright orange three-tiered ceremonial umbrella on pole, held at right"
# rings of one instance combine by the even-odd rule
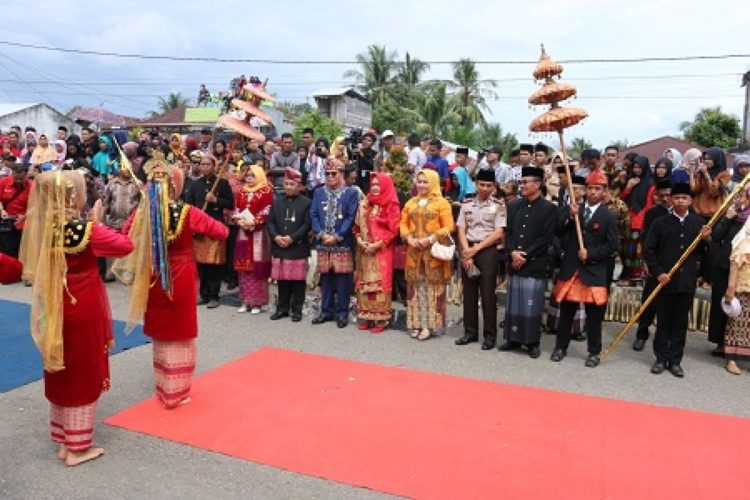
[[[563,68],[560,64],[550,59],[542,45],[542,55],[539,63],[534,69],[534,79],[542,81],[542,87],[529,97],[529,104],[549,105],[549,111],[537,116],[529,124],[532,132],[557,132],[560,138],[560,151],[562,151],[565,164],[565,175],[568,178],[568,186],[573,185],[573,176],[570,173],[568,153],[565,148],[563,130],[572,127],[588,116],[585,109],[569,108],[560,106],[560,102],[576,95],[576,88],[566,83],[555,82],[554,78],[562,74]],[[576,205],[575,193],[570,189],[570,203]],[[578,246],[583,248],[583,232],[578,218],[575,219]]]

